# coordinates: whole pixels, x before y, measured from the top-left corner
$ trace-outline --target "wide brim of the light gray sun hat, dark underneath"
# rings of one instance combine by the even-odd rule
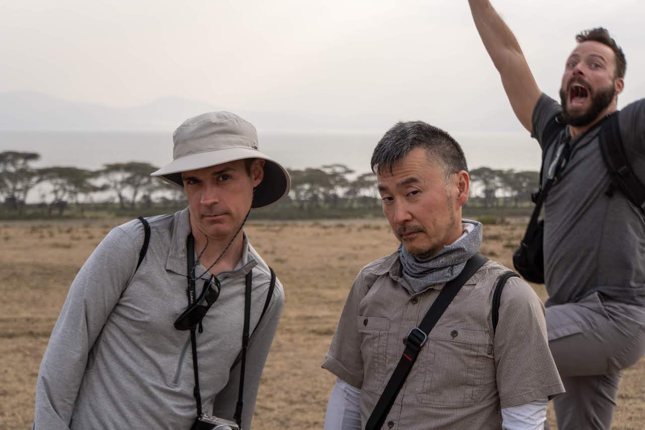
[[[181,172],[204,169],[204,167],[211,167],[245,158],[260,158],[265,160],[264,178],[253,191],[252,208],[266,207],[289,194],[291,178],[286,169],[272,158],[251,148],[226,148],[190,154],[175,159],[172,163],[168,163],[168,165],[150,174],[150,176],[156,176],[183,189],[184,183],[181,179]]]

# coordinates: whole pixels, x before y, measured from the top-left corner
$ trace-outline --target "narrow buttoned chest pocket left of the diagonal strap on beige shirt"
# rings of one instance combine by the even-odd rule
[[[384,316],[359,315],[356,326],[361,334],[363,387],[375,391],[384,384],[388,365],[390,320]]]

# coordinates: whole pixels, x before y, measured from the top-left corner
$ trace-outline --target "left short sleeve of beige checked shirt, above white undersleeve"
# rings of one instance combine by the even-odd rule
[[[361,389],[363,383],[363,361],[361,335],[356,326],[356,317],[361,300],[368,291],[367,284],[361,271],[352,285],[333,334],[332,345],[323,362],[323,369],[357,389]]]

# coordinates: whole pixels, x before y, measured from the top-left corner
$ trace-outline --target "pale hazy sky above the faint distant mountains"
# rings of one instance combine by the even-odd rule
[[[551,96],[575,33],[598,25],[627,54],[620,105],[645,96],[641,1],[493,5]],[[0,39],[0,92],[521,130],[465,0],[12,1],[0,6]]]

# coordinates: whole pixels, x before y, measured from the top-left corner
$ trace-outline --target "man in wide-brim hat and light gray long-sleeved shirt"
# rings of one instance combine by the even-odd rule
[[[283,289],[242,227],[290,178],[230,112],[173,138],[152,176],[188,208],[116,227],[83,265],[41,363],[35,429],[250,429]]]

